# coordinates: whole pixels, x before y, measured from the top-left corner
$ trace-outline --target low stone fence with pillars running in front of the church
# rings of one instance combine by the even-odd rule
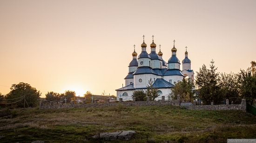
[[[60,109],[60,108],[73,108],[73,107],[107,107],[107,106],[117,106],[118,104],[122,104],[124,106],[162,106],[162,105],[172,105],[172,106],[180,106],[180,96],[177,96],[176,100],[165,100],[165,97],[162,96],[161,101],[149,101],[149,98],[147,97],[147,101],[135,101],[135,99],[132,102],[123,102],[122,98],[119,99],[119,102],[108,102],[107,103],[97,103],[97,100],[94,100],[93,104],[74,104],[74,101],[71,101],[71,104],[63,104],[61,103],[59,105],[54,105],[53,102],[50,103],[50,105],[43,105],[42,102],[40,102],[40,109]],[[226,99],[226,105],[213,105],[213,102],[211,105],[196,105],[196,101],[194,101],[194,104],[192,106],[182,106],[186,109],[192,109],[192,110],[242,110],[246,112],[246,100],[242,99],[241,104],[237,105],[229,105],[229,100]]]

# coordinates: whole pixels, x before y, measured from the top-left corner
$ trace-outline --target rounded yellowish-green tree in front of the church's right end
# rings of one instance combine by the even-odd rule
[[[177,95],[180,95],[181,101],[184,102],[193,102],[195,100],[195,85],[192,79],[183,78],[182,81],[179,81],[175,84],[169,94],[170,99],[177,99]]]

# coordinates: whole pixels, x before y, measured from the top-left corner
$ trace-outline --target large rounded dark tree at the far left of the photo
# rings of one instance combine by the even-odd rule
[[[25,95],[29,106],[37,106],[39,104],[41,93],[29,84],[20,82],[19,84],[13,84],[10,89],[10,93],[6,95],[7,99],[15,99]],[[17,106],[23,107],[23,104],[23,102],[18,102]]]

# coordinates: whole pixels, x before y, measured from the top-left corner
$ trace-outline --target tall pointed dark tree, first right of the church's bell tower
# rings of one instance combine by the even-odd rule
[[[217,68],[214,65],[214,61],[210,62],[210,69],[207,69],[203,64],[202,68],[196,76],[196,86],[198,87],[199,98],[209,104],[211,101],[218,103],[223,100],[220,94],[220,87],[218,85],[219,73],[216,73]]]

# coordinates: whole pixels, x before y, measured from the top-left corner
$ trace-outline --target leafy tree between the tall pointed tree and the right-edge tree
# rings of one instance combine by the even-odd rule
[[[234,73],[221,74],[220,75],[220,94],[222,94],[223,99],[229,99],[229,102],[240,100],[239,95],[239,82],[238,75]]]

